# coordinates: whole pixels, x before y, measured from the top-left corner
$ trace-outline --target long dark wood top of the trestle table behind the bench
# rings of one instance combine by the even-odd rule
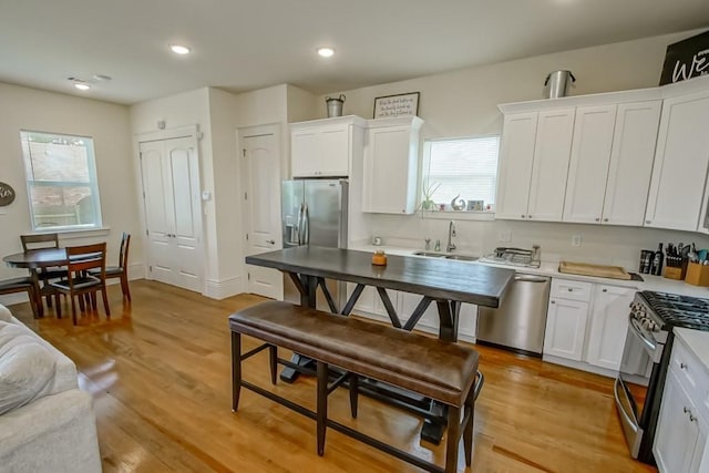
[[[246,263],[493,308],[514,278],[513,269],[415,256],[387,255],[387,266],[374,266],[371,256],[310,245],[247,256]]]

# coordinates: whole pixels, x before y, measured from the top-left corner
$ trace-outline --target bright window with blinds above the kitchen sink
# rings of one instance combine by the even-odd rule
[[[443,204],[451,210],[453,199],[464,200],[466,210],[494,208],[500,136],[428,141],[422,199],[431,198],[436,209]]]

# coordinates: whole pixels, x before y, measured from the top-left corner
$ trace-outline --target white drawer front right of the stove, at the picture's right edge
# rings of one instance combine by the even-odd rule
[[[675,338],[669,369],[697,404],[699,413],[705,419],[709,419],[709,378],[706,369],[678,338]]]

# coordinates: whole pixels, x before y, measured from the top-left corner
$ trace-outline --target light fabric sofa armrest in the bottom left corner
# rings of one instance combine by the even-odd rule
[[[101,472],[91,395],[78,389],[0,415],[3,472]]]

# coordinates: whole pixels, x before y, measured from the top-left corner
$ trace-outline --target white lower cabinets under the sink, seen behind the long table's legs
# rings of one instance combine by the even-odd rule
[[[347,285],[348,297],[354,290],[356,285]],[[409,316],[415,310],[417,306],[421,301],[421,296],[418,294],[402,292],[398,290],[388,289],[387,294],[391,304],[397,309],[399,320],[401,325],[404,325],[409,320]],[[363,317],[368,317],[379,321],[389,321],[387,309],[373,287],[366,287],[360,295],[357,304],[354,305],[354,313]],[[465,341],[475,341],[475,326],[477,322],[477,306],[472,304],[463,304],[458,322],[459,338]],[[435,302],[431,302],[429,308],[423,312],[423,317],[415,326],[417,330],[425,331],[429,333],[439,332],[439,312]]]

